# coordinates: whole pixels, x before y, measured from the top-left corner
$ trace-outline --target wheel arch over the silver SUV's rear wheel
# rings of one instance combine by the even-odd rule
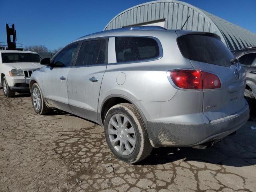
[[[100,112],[98,113],[98,122],[100,122],[100,124],[102,126],[104,126],[104,120],[105,120],[106,113],[108,112],[108,110],[112,106],[114,106],[116,104],[120,104],[120,103],[133,104],[134,107],[138,110],[138,112],[143,120],[145,128],[147,128],[147,120],[146,120],[146,117],[144,116],[142,110],[130,98],[128,98],[124,95],[120,95],[120,94],[113,94],[113,95],[107,96],[103,100],[103,102],[100,106]]]

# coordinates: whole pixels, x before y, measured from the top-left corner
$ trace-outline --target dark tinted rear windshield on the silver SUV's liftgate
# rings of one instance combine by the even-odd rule
[[[178,38],[178,46],[182,55],[190,60],[230,67],[234,55],[213,36],[189,34]]]

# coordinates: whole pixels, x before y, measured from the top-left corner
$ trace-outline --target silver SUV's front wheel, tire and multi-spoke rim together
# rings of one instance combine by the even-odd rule
[[[37,114],[44,115],[50,112],[50,108],[46,106],[44,97],[42,96],[42,91],[37,83],[32,86],[31,100],[32,106]]]

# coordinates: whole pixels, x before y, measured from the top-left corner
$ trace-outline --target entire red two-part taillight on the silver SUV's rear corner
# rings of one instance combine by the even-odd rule
[[[216,89],[221,87],[218,76],[200,70],[170,71],[174,84],[183,89]]]

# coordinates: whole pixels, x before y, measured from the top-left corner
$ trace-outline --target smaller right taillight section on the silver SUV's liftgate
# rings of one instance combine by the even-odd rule
[[[220,88],[220,79],[218,76],[202,71],[204,89]]]

